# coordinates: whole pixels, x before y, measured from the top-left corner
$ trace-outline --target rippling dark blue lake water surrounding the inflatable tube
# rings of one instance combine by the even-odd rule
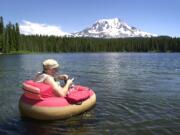
[[[22,119],[21,83],[54,58],[61,73],[97,94],[96,106],[66,120]],[[0,55],[0,134],[179,135],[180,54],[61,53]]]

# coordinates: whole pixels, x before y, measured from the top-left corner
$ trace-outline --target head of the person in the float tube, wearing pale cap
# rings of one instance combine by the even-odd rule
[[[49,75],[55,75],[59,68],[59,64],[56,60],[54,59],[47,59],[43,61],[43,72],[49,74]]]

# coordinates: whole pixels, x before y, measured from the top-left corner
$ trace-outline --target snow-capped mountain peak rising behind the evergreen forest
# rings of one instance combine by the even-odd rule
[[[102,19],[80,32],[72,33],[74,37],[124,38],[157,36],[131,27],[118,18]]]

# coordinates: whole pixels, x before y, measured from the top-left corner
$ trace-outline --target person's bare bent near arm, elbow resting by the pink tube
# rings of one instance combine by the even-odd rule
[[[54,81],[54,78],[49,76],[47,77],[47,79],[45,80],[45,83],[46,84],[49,84],[52,86],[52,88],[55,90],[57,96],[66,96],[67,92],[68,92],[68,89],[70,87],[70,85],[72,84],[72,79],[68,79],[67,80],[67,83],[65,84],[64,87],[61,87],[59,86],[55,81]]]

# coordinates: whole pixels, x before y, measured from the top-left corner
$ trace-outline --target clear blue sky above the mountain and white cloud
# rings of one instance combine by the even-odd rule
[[[119,18],[158,35],[180,37],[180,0],[1,0],[0,16],[80,31],[99,19]]]

